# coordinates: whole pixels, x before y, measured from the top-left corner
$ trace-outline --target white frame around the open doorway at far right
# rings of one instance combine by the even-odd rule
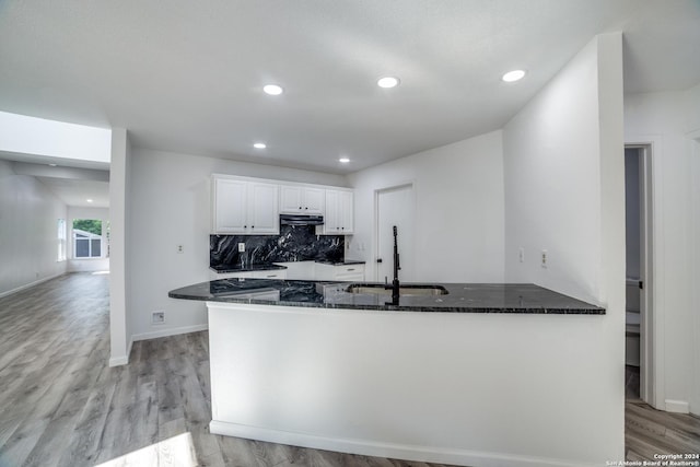
[[[664,408],[664,332],[663,319],[656,313],[654,275],[657,238],[654,225],[661,219],[654,209],[653,142],[626,143],[625,149],[640,151],[640,276],[643,281],[640,299],[640,398],[655,408]]]

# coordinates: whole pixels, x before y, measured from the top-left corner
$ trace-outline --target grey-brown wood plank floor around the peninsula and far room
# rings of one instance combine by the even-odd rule
[[[0,467],[429,465],[212,435],[207,332],[136,342],[110,369],[108,326],[107,276],[0,299]],[[626,413],[628,459],[700,452],[700,419]]]

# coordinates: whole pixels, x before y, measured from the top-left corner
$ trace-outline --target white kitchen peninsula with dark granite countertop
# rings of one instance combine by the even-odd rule
[[[397,304],[363,285],[224,279],[171,291],[207,302],[211,432],[474,465],[520,430],[513,401],[541,406],[565,366],[596,359],[593,340],[568,339],[595,332],[605,310],[537,285],[402,284]],[[495,425],[493,410],[511,410],[513,425]]]

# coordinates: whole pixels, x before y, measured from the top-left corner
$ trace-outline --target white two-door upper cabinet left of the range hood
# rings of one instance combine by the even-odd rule
[[[275,184],[214,177],[213,233],[279,234],[278,190]]]

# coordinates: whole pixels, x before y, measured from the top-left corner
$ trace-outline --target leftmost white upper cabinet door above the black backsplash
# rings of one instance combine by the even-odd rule
[[[214,179],[214,233],[245,233],[247,185],[242,180]]]

